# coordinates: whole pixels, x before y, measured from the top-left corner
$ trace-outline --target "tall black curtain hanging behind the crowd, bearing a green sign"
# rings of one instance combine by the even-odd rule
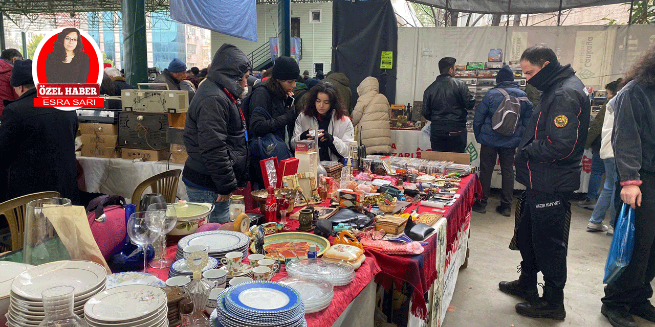
[[[352,101],[364,78],[377,77],[380,93],[396,100],[398,25],[390,0],[333,0],[332,70],[350,80]],[[392,69],[381,69],[383,51],[393,52]]]

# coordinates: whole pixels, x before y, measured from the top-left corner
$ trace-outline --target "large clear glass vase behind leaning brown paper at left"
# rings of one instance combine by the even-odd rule
[[[70,207],[71,200],[49,198],[30,201],[25,209],[23,262],[39,266],[48,262],[70,260],[71,256],[50,222],[60,207]]]

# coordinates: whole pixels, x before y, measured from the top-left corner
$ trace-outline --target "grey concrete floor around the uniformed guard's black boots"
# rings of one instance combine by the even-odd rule
[[[571,201],[574,202],[574,201]],[[568,279],[564,289],[567,318],[564,321],[523,317],[514,305],[522,300],[498,290],[499,281],[518,278],[515,267],[521,262],[519,251],[508,249],[514,233],[511,217],[495,211],[498,196],[489,199],[486,214],[474,212],[471,218],[468,267],[460,269],[455,294],[443,327],[487,326],[611,326],[601,315],[603,274],[612,237],[605,232],[586,231],[591,211],[571,206]],[[605,223],[608,223],[605,218]],[[541,273],[539,283],[543,283]],[[539,287],[539,292],[542,288]],[[655,326],[635,316],[638,326]]]

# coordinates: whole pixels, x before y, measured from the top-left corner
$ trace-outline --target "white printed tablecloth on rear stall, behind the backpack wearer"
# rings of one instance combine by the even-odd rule
[[[466,147],[466,152],[471,155],[471,164],[475,165],[479,171],[480,168],[480,144],[476,141],[476,135],[474,133],[468,133],[468,146]],[[429,150],[432,146],[430,145],[430,135],[423,133],[422,131],[410,131],[403,129],[392,129],[391,130],[391,151],[393,156],[401,157],[411,157],[411,158],[421,158],[421,151]],[[585,150],[584,156],[582,157],[582,173],[580,174],[580,190],[576,192],[586,193],[589,186],[589,177],[591,176],[591,150]],[[500,165],[496,160],[496,168],[491,177],[491,187],[501,188],[500,174]],[[514,183],[515,190],[525,190],[525,186],[519,184],[518,182]]]

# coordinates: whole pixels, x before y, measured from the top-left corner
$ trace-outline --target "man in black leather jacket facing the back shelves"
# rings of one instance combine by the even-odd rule
[[[462,80],[455,78],[455,58],[439,61],[441,75],[423,93],[422,114],[430,120],[432,151],[464,152],[466,149],[466,115],[476,105],[476,98]]]

